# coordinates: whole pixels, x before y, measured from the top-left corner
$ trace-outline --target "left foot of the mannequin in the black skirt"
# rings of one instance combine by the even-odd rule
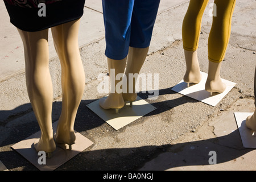
[[[51,158],[52,152],[56,149],[56,144],[52,139],[36,139],[34,142],[34,147],[37,152],[44,151],[46,152],[48,158]]]

